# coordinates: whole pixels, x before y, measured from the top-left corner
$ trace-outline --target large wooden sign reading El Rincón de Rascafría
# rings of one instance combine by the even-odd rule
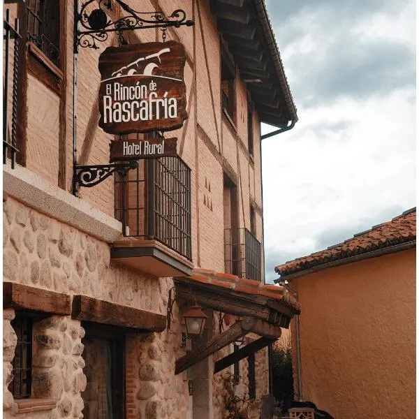
[[[99,57],[99,126],[112,134],[180,128],[188,117],[185,62],[175,41],[106,48]]]

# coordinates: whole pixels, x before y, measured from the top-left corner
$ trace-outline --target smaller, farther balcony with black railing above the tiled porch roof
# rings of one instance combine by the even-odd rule
[[[229,274],[260,281],[260,242],[247,228],[224,230],[224,265]]]

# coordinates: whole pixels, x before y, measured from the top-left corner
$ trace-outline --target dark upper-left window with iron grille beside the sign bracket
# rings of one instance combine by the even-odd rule
[[[27,41],[59,66],[59,0],[27,1]]]

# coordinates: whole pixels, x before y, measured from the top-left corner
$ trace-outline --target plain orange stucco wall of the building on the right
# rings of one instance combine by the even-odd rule
[[[290,286],[302,304],[303,399],[335,419],[415,418],[416,249],[309,274]],[[296,388],[295,356],[293,362]]]

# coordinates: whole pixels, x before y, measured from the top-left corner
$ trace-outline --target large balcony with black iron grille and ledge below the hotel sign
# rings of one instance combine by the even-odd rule
[[[115,178],[115,218],[124,240],[112,260],[158,277],[191,274],[191,169],[179,157],[140,160]]]

